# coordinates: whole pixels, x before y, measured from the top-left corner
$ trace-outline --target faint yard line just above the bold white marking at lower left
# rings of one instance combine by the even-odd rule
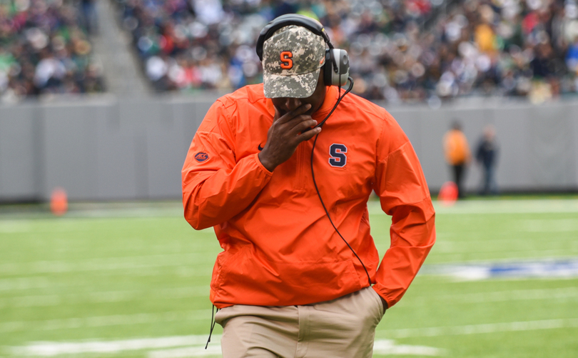
[[[48,319],[44,321],[0,322],[0,333],[51,331],[56,329],[77,329],[83,327],[131,326],[159,322],[191,321],[211,319],[210,309],[195,311],[175,311],[162,313],[116,314],[98,317],[74,317]]]

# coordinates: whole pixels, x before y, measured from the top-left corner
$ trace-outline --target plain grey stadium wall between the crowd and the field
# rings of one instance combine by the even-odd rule
[[[46,201],[56,187],[73,201],[178,199],[188,146],[217,97],[0,104],[0,202]],[[442,136],[453,119],[472,151],[482,128],[495,125],[502,192],[578,191],[578,101],[384,106],[412,141],[432,192],[450,180]],[[472,162],[466,189],[475,192],[480,180]]]

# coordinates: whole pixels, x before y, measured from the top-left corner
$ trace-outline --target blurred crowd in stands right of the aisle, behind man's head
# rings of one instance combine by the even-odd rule
[[[577,91],[576,0],[116,1],[158,91],[260,82],[258,33],[287,13],[324,24],[350,54],[353,91],[368,99],[544,101]]]

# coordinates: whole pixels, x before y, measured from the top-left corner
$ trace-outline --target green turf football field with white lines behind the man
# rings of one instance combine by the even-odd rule
[[[578,357],[578,199],[437,209],[437,244],[375,357]],[[390,219],[370,205],[380,254]],[[0,207],[0,357],[220,357],[220,251],[179,203]],[[512,266],[513,265],[513,266]]]

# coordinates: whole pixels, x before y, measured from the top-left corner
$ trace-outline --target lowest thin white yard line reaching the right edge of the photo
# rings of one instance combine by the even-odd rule
[[[535,331],[540,329],[577,328],[578,318],[544,319],[542,321],[469,324],[466,326],[385,329],[379,336],[388,338],[437,337],[497,332]]]

